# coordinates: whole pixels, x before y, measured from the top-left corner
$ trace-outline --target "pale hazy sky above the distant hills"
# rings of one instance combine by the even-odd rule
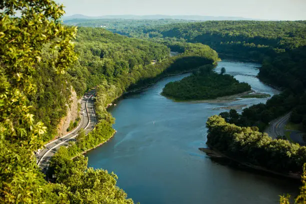
[[[241,16],[306,20],[306,0],[55,0],[66,14]]]

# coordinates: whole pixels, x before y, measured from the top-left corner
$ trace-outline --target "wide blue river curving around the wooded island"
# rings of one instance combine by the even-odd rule
[[[223,60],[226,73],[249,83],[255,91],[278,93],[255,76],[260,64]],[[298,183],[213,162],[198,147],[206,147],[205,122],[226,107],[252,105],[267,98],[233,102],[174,102],[160,95],[163,78],[145,91],[117,101],[114,137],[87,153],[88,166],[118,175],[117,184],[134,202],[147,203],[277,203],[280,194],[295,194]],[[241,111],[241,109],[238,109]]]

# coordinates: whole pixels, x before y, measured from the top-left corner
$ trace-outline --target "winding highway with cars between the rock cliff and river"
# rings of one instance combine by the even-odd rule
[[[78,126],[70,133],[45,144],[45,148],[36,154],[37,165],[43,169],[43,172],[47,169],[51,157],[60,146],[67,146],[69,141],[75,141],[79,129],[83,128],[85,133],[88,133],[94,128],[97,120],[93,109],[93,100],[91,99],[93,93],[93,90],[89,91],[81,99],[81,112],[84,111],[84,114],[81,114],[81,121]]]

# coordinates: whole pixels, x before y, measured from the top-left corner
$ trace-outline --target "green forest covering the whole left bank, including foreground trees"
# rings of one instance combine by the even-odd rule
[[[87,168],[87,160],[79,155],[113,135],[114,118],[106,104],[165,70],[213,64],[217,53],[207,45],[180,43],[184,51],[170,57],[170,48],[157,42],[103,28],[76,32],[61,24],[63,6],[54,1],[7,0],[0,6],[0,202],[132,203],[116,186],[115,174]],[[55,183],[47,183],[33,152],[56,135],[71,89],[81,96],[92,87],[99,122],[88,134],[80,131],[68,148],[59,149],[49,171]]]

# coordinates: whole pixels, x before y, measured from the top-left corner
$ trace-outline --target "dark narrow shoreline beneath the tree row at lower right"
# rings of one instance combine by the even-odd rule
[[[292,178],[292,179],[300,179],[301,174],[299,173],[280,173],[277,171],[273,171],[273,170],[269,170],[267,168],[264,168],[262,166],[258,166],[258,165],[253,165],[249,162],[245,162],[245,161],[241,161],[239,159],[236,158],[232,158],[230,156],[227,156],[223,153],[221,153],[220,151],[213,149],[213,148],[198,148],[200,151],[205,152],[208,156],[210,156],[211,158],[213,158],[215,161],[220,161],[220,163],[227,163],[228,162],[224,162],[224,159],[227,161],[231,161],[231,165],[234,165],[235,167],[244,167],[244,168],[249,168],[249,169],[253,169],[259,172],[266,172],[269,174],[274,174],[274,175],[278,175],[278,176],[283,176],[283,177],[287,177],[287,178]],[[232,163],[234,162],[234,163]]]

